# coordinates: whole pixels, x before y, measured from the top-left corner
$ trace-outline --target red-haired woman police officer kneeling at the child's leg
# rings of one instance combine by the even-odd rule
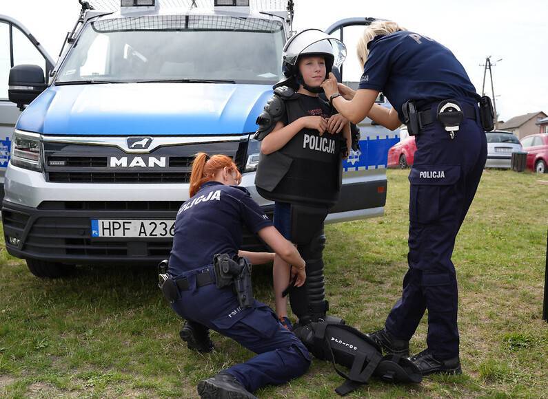
[[[240,252],[247,259],[238,256],[242,223],[294,265],[296,285],[305,281],[305,262],[245,188],[237,186],[240,179],[226,155],[196,155],[191,197],[179,209],[168,271],[160,274],[164,296],[188,321],[187,340],[207,344],[194,349],[210,349],[207,332],[212,329],[257,354],[200,381],[201,398],[255,398],[256,389],[301,376],[310,364],[303,343],[267,305],[252,297],[247,260],[265,263],[272,257],[253,252]]]

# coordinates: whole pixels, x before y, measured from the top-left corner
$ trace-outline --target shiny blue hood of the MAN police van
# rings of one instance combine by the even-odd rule
[[[52,86],[17,129],[55,135],[195,136],[250,133],[270,85],[112,83]]]

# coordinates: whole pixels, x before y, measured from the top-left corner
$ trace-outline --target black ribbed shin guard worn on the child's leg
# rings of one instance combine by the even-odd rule
[[[298,317],[295,327],[321,320],[344,324],[344,321],[338,317],[326,316],[329,303],[325,301],[323,278],[323,248],[325,248],[323,228],[318,231],[312,241],[297,248],[306,262],[306,281],[302,287],[292,288],[290,291],[291,309]]]

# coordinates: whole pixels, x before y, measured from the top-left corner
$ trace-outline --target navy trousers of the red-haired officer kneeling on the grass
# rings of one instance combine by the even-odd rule
[[[285,330],[267,305],[255,301],[254,308],[241,309],[232,288],[219,290],[214,284],[196,288],[195,274],[189,272],[185,276],[190,290],[179,292],[179,299],[172,304],[173,310],[184,319],[210,327],[257,354],[225,370],[247,391],[253,392],[267,384],[283,384],[305,373],[310,365],[306,347],[292,332]]]

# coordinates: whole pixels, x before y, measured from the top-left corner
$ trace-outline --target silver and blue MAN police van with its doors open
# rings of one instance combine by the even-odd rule
[[[10,59],[8,95],[24,110],[12,138],[1,132],[12,142],[2,204],[8,252],[39,277],[75,264],[165,259],[199,151],[230,155],[241,185],[271,214],[254,187],[252,137],[282,77],[293,1],[80,3],[57,63],[26,30],[41,61]],[[339,21],[327,33],[344,40],[371,21]],[[361,149],[343,164],[341,200],[327,222],[383,214],[387,150],[397,133],[370,120],[359,127]],[[245,243],[262,246],[251,234]]]

